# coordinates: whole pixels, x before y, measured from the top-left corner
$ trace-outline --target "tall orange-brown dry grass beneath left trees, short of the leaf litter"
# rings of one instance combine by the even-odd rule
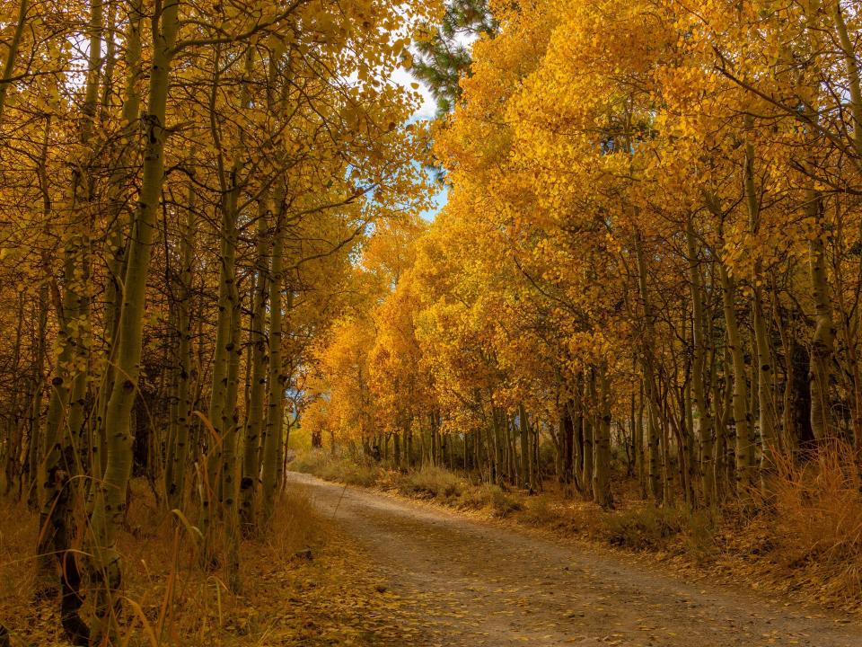
[[[119,536],[125,582],[119,644],[124,647],[229,647],[266,644],[275,621],[270,610],[284,606],[273,578],[296,571],[305,549],[317,553],[325,524],[301,490],[286,493],[277,506],[272,532],[242,542],[240,595],[226,586],[221,567],[198,567],[197,530],[187,518],[159,510],[145,483],[133,482],[127,524]],[[34,601],[39,533],[37,515],[22,503],[0,500],[0,625],[13,647],[68,645],[61,634],[57,599]],[[92,607],[84,581],[82,616]]]

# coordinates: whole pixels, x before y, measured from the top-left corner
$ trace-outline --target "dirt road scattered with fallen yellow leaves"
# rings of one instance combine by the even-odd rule
[[[860,647],[858,621],[290,474],[418,608],[412,644]],[[399,622],[393,616],[393,622]]]

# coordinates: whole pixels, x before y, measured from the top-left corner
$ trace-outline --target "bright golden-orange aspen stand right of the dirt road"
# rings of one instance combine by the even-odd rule
[[[613,465],[691,507],[769,501],[819,449],[854,469],[858,9],[492,2],[435,125],[448,203],[366,253],[316,441],[604,508]]]

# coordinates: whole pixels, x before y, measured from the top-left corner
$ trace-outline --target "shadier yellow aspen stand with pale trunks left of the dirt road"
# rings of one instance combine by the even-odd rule
[[[241,588],[308,341],[358,241],[424,201],[390,77],[427,11],[0,5],[4,489],[40,512],[36,595],[61,590],[73,643],[118,635],[133,474]]]

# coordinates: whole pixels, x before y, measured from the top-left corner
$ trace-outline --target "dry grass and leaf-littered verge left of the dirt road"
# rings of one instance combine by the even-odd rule
[[[242,542],[242,591],[233,595],[222,569],[198,568],[192,534],[155,507],[145,483],[133,487],[128,527],[119,537],[126,577],[122,644],[400,643],[387,634],[397,634],[398,624],[386,628],[397,615],[395,598],[375,588],[379,582],[363,555],[318,517],[301,490],[286,494],[268,536]],[[0,624],[14,647],[66,646],[58,601],[33,602],[37,530],[25,506],[0,501]],[[85,604],[84,618],[89,611]]]

